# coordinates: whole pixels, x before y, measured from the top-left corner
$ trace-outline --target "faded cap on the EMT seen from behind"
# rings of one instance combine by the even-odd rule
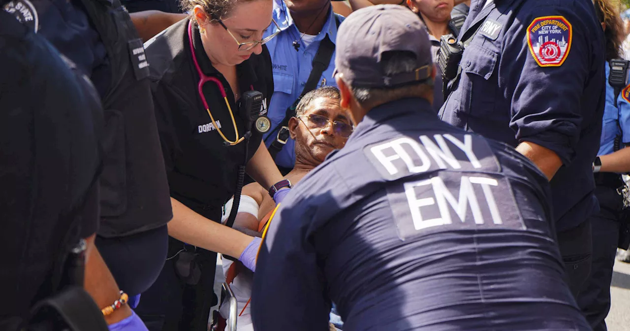
[[[391,51],[415,54],[415,70],[384,74],[382,55]],[[343,74],[346,83],[359,88],[388,88],[431,78],[433,59],[425,24],[398,4],[358,9],[339,26],[335,67],[335,74]]]

